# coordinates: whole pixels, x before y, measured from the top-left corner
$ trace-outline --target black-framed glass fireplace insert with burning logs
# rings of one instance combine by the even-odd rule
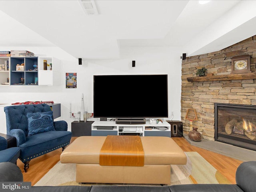
[[[215,103],[215,140],[256,151],[256,106]]]

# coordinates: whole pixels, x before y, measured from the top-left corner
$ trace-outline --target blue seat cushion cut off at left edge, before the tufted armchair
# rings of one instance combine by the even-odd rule
[[[0,151],[0,162],[15,163],[20,156],[20,148],[12,147]]]

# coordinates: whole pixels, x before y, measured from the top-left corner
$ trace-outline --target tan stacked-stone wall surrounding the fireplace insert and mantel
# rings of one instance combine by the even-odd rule
[[[196,110],[198,128],[202,138],[214,140],[214,103],[256,105],[256,80],[228,80],[211,82],[188,82],[196,70],[207,68],[214,75],[231,72],[231,58],[248,54],[251,56],[251,71],[255,72],[256,36],[243,40],[220,51],[187,57],[182,60],[181,121],[183,132],[190,130],[190,121],[185,119],[188,108]]]

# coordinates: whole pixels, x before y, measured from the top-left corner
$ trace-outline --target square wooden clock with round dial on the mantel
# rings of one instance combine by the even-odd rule
[[[250,55],[242,55],[231,58],[231,74],[250,73],[251,72],[251,57]]]

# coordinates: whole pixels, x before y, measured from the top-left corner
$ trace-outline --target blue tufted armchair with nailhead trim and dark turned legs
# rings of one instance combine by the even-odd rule
[[[47,104],[30,104],[4,107],[6,114],[7,134],[16,137],[17,147],[20,148],[19,159],[24,163],[25,172],[29,162],[38,156],[62,147],[62,151],[70,143],[72,133],[67,131],[65,121],[53,122],[54,130],[28,135],[27,113],[51,112]]]

